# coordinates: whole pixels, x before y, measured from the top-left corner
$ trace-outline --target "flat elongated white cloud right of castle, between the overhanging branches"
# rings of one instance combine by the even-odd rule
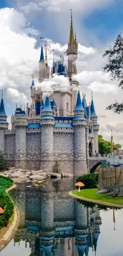
[[[109,83],[101,83],[98,81],[94,81],[90,83],[88,88],[93,92],[100,92],[104,94],[108,94],[109,92],[116,94],[118,91],[118,88],[116,85],[109,84]]]

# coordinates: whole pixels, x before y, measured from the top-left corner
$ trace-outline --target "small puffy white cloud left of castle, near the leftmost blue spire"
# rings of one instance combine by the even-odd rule
[[[8,88],[7,89],[7,97],[9,99],[12,99],[13,102],[21,102],[26,104],[27,103],[27,96],[24,95],[23,92],[19,92],[16,89],[13,88]]]

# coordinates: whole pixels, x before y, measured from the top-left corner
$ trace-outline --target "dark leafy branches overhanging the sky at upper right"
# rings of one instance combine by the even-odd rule
[[[111,80],[117,79],[119,81],[119,87],[123,89],[123,38],[121,34],[114,41],[114,46],[109,46],[109,49],[105,51],[103,57],[107,57],[108,60],[103,70],[110,73]],[[107,106],[106,109],[120,114],[123,111],[123,103],[115,101]]]

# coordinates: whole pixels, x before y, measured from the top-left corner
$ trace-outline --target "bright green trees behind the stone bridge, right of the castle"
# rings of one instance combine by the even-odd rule
[[[104,140],[102,135],[98,135],[98,144],[99,144],[99,153],[103,154],[111,154],[111,142]],[[121,144],[113,143],[113,150],[121,149]]]

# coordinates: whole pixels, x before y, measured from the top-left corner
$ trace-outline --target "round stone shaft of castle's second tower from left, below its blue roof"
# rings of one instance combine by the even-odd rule
[[[15,120],[15,167],[26,169],[27,163],[27,116],[19,114]]]

